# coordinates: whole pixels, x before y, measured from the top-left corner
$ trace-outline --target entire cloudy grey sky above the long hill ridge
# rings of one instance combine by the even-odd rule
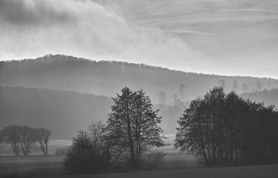
[[[278,79],[277,0],[0,0],[0,60],[66,54]]]

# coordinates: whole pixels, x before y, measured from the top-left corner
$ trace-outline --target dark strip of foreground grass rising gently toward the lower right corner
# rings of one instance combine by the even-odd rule
[[[154,171],[154,172],[133,172],[133,173],[116,173],[103,175],[74,175],[63,176],[63,178],[174,178],[174,177],[188,177],[188,178],[277,178],[278,165],[256,165],[230,168],[189,168],[181,170],[168,171]]]

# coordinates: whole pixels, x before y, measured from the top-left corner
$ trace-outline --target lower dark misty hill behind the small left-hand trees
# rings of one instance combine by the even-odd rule
[[[71,139],[91,120],[106,121],[111,98],[77,92],[0,87],[0,129],[26,124],[53,131],[51,139]]]

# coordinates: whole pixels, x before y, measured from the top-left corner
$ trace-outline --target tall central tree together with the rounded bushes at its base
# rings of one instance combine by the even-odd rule
[[[165,137],[158,125],[161,117],[149,97],[142,90],[123,88],[121,92],[113,98],[107,125],[91,122],[88,131],[79,131],[73,139],[64,163],[70,171],[154,168],[165,155],[153,151],[165,146]]]

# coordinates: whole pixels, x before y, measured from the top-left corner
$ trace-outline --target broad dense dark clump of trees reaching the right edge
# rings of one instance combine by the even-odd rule
[[[190,102],[179,118],[175,146],[201,156],[207,166],[278,161],[278,112],[213,88]]]

